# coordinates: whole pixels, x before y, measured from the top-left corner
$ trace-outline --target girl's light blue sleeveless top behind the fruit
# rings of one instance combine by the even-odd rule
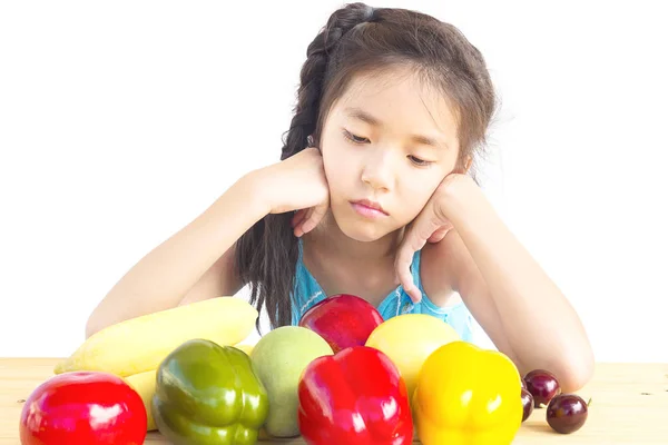
[[[320,284],[304,265],[301,238],[298,245],[299,257],[297,259],[295,287],[291,296],[293,303],[293,326],[296,326],[299,323],[302,315],[304,315],[306,310],[327,297]],[[413,303],[411,297],[404,291],[403,287],[397,286],[396,289],[391,291],[390,295],[381,301],[377,307],[379,313],[385,320],[402,314],[428,314],[438,317],[452,326],[460,335],[461,339],[472,342],[473,317],[464,303],[460,301],[456,305],[440,307],[433,304],[424,293],[422,280],[420,279],[420,255],[421,250],[418,250],[413,255],[411,273],[413,274],[415,285],[422,293],[422,299],[419,303]]]

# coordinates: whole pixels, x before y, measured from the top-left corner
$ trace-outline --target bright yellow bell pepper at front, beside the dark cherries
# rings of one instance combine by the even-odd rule
[[[424,362],[413,394],[425,445],[510,444],[522,423],[522,384],[502,353],[466,342],[439,347]]]

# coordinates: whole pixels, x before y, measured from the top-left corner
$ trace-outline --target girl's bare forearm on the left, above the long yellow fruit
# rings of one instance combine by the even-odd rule
[[[87,336],[110,324],[177,306],[207,269],[268,212],[257,189],[254,172],[242,177],[141,258],[96,307]]]

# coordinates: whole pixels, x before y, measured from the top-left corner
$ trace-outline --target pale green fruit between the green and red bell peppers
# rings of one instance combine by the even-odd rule
[[[264,428],[269,435],[299,435],[299,377],[311,362],[324,355],[333,355],[330,344],[318,334],[301,326],[282,326],[257,342],[250,359],[267,389],[269,413]]]

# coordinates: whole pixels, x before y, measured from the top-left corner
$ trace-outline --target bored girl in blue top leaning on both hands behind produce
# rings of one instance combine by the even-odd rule
[[[582,387],[593,359],[578,315],[474,180],[495,106],[483,57],[453,26],[364,3],[335,11],[308,46],[281,161],[132,267],[87,335],[247,284],[273,328],[353,294],[385,319],[441,317],[464,339],[474,318],[520,373]]]

